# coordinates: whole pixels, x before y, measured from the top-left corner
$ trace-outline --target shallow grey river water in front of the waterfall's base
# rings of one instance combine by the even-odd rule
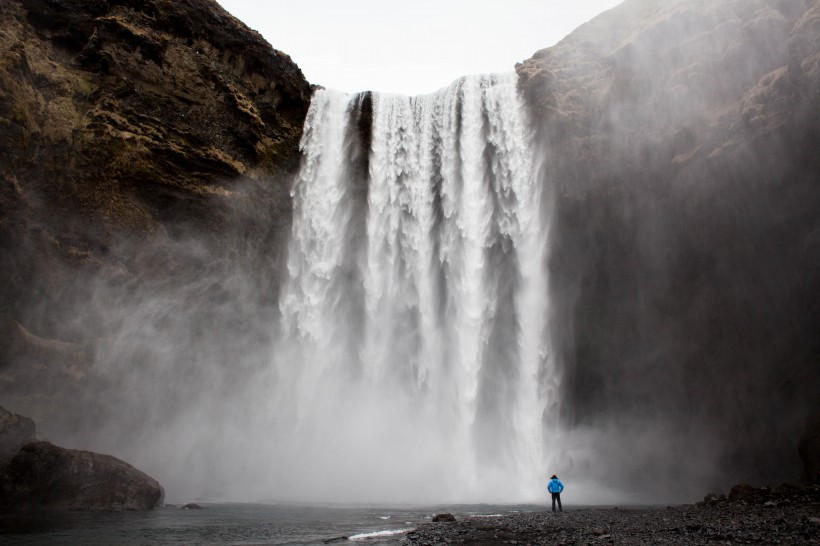
[[[535,505],[438,507],[209,504],[151,512],[70,512],[0,517],[3,544],[396,544],[436,513],[457,518],[543,510]],[[337,542],[333,542],[337,543]]]

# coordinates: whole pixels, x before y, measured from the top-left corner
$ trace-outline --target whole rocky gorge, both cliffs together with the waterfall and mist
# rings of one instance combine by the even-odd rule
[[[49,440],[172,499],[818,471],[820,2],[627,0],[419,97],[209,0],[0,17],[0,399]]]

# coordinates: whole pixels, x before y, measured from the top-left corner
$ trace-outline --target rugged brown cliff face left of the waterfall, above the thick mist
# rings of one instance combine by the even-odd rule
[[[237,307],[275,301],[310,95],[287,55],[211,0],[0,4],[9,404],[81,382],[116,331],[101,311],[124,295],[204,307],[244,269],[258,297]],[[218,280],[180,293],[206,274]],[[220,316],[203,335],[242,329]]]

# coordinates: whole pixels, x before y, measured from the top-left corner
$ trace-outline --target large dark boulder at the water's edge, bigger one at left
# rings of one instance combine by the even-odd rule
[[[31,510],[151,510],[162,486],[110,455],[48,442],[23,446],[0,476],[0,512]]]

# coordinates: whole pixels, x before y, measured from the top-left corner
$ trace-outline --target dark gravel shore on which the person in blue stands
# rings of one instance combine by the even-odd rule
[[[711,497],[711,498],[710,498]],[[707,496],[666,509],[588,508],[428,523],[406,545],[820,544],[820,490],[752,500]]]

